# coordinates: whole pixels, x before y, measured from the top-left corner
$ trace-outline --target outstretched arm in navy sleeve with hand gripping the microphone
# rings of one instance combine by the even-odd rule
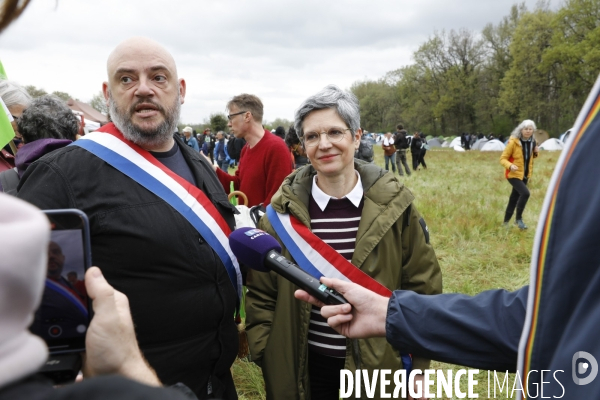
[[[349,338],[382,336],[400,351],[452,364],[515,371],[528,287],[424,296],[397,290],[390,299],[355,283],[321,278],[348,303],[324,306],[303,290],[297,299],[321,308],[327,323]]]

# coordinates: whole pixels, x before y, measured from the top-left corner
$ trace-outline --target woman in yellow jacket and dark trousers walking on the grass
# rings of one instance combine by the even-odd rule
[[[521,122],[512,131],[508,144],[500,157],[500,164],[506,168],[506,178],[513,188],[504,214],[504,225],[508,225],[516,208],[517,220],[515,223],[521,230],[527,229],[527,225],[523,222],[523,210],[529,200],[527,182],[533,172],[533,159],[538,155],[538,147],[533,138],[535,130],[535,123],[532,120],[526,119]]]

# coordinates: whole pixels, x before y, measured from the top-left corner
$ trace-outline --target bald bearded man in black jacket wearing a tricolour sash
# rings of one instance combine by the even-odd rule
[[[113,123],[31,165],[18,195],[88,215],[94,264],[129,298],[140,348],[164,384],[235,399],[241,278],[211,236],[233,226],[233,208],[210,164],[173,135],[185,81],[171,54],[146,38],[119,44],[107,72]],[[209,231],[194,219],[200,203],[220,221]]]

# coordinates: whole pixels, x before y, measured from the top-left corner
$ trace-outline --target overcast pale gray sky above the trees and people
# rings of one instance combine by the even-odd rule
[[[556,4],[558,0],[553,0]],[[89,101],[123,39],[148,36],[187,82],[184,123],[202,122],[239,93],[265,119],[291,120],[327,84],[349,88],[412,63],[435,30],[480,32],[515,0],[32,0],[0,36],[11,80]],[[533,9],[536,0],[525,1]]]

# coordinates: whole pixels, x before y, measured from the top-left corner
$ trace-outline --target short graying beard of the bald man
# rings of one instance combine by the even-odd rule
[[[135,114],[135,107],[139,104],[154,105],[157,108],[157,111],[164,115],[164,121],[154,129],[143,129],[140,126],[135,125],[132,122],[131,117]],[[125,111],[117,106],[112,98],[112,93],[108,92],[108,110],[113,123],[117,129],[123,133],[125,139],[131,140],[142,148],[152,149],[160,147],[173,137],[173,133],[175,133],[175,130],[177,129],[177,122],[181,111],[181,101],[178,95],[170,108],[164,108],[149,98],[140,98],[131,105],[129,111]]]

